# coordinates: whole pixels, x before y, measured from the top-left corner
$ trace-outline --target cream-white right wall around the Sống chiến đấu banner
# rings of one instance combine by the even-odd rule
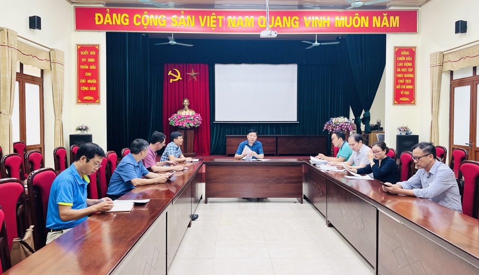
[[[419,141],[429,141],[431,128],[430,54],[463,45],[479,38],[478,0],[431,0],[421,7],[419,34],[387,35],[386,55],[386,142],[396,146],[396,126],[409,125]],[[455,22],[468,21],[468,32],[455,34]],[[418,46],[416,105],[393,106],[393,46]],[[439,144],[449,146],[449,72],[443,73],[440,109]]]

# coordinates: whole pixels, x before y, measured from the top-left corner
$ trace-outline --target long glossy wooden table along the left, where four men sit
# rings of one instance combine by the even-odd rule
[[[4,274],[166,274],[204,184],[201,161],[183,165],[188,170],[171,181],[120,197],[150,199],[147,204],[94,214]]]

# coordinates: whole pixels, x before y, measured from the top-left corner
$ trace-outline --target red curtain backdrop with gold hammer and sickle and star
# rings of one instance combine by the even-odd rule
[[[181,79],[177,81],[170,80],[177,79],[176,76],[180,72]],[[196,75],[196,80],[188,75],[192,73]],[[171,75],[168,73],[171,71]],[[208,80],[208,65],[207,64],[165,64],[163,82],[163,129],[167,136],[167,142],[170,142],[170,133],[177,131],[173,126],[170,126],[168,118],[183,108],[183,99],[190,100],[190,109],[195,110],[201,115],[202,125],[195,130],[195,138],[193,142],[193,151],[197,155],[210,155],[210,90]],[[169,132],[167,133],[167,131]]]

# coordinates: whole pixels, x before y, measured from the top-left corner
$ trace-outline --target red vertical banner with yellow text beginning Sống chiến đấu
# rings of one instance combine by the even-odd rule
[[[394,47],[394,104],[416,104],[416,47]]]

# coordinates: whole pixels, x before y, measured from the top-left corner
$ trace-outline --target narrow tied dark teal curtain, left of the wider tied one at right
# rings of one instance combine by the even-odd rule
[[[363,106],[359,99],[358,89],[356,89],[356,82],[353,77],[353,69],[351,67],[351,59],[349,58],[348,43],[346,37],[339,38],[340,44],[338,48],[339,64],[343,74],[344,92],[348,98],[349,106],[354,115],[354,124],[356,125],[356,132],[362,134],[361,131],[361,114],[363,113]]]

